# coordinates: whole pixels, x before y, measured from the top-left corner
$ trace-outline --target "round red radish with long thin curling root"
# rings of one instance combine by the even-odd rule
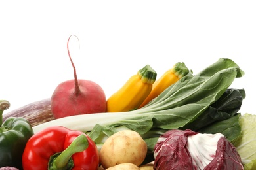
[[[77,79],[69,48],[68,56],[74,69],[74,80],[62,82],[54,90],[51,97],[51,110],[54,118],[106,112],[106,95],[102,88],[90,80]]]

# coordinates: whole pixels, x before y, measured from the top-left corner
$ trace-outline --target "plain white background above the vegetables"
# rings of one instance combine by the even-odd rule
[[[245,75],[242,114],[256,114],[256,5],[253,1],[0,1],[0,99],[5,112],[51,97],[74,78],[106,98],[149,64],[160,77],[177,62],[196,74],[219,58]]]

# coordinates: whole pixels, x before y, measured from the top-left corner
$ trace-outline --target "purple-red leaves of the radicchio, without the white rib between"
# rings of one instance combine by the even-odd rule
[[[188,136],[197,132],[186,129],[167,131],[160,137],[154,147],[154,169],[198,169],[193,165],[192,157],[186,146]],[[162,139],[162,140],[161,140]],[[236,148],[225,138],[217,142],[217,149],[213,160],[205,170],[244,169]]]

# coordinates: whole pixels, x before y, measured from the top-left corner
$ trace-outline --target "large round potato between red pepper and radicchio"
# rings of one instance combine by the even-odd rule
[[[141,165],[148,147],[136,131],[123,130],[110,136],[100,150],[100,164],[105,169],[121,163]]]

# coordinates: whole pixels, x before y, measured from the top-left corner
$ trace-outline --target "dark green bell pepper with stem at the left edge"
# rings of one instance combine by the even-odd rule
[[[28,120],[21,117],[10,117],[3,122],[3,111],[9,107],[9,101],[0,101],[0,167],[22,169],[22,153],[33,129]]]

